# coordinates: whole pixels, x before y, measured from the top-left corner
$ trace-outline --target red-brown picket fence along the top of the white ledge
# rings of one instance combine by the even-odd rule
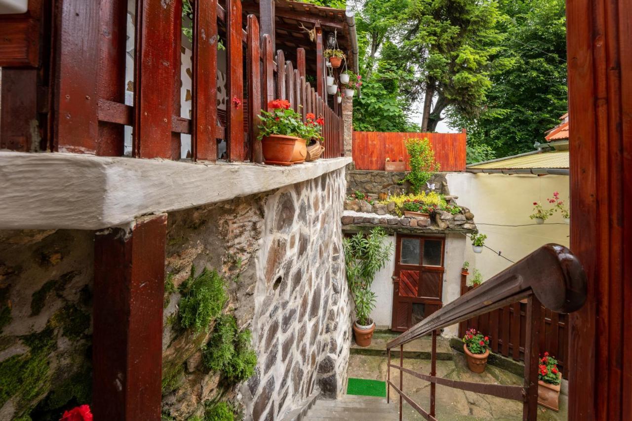
[[[123,156],[127,125],[133,128],[133,157],[179,160],[180,135],[186,133],[191,135],[192,161],[216,161],[218,140],[224,139],[229,161],[262,162],[258,112],[270,100],[284,98],[303,116],[322,115],[324,157],[343,156],[341,118],[305,82],[305,51],[298,49],[295,65],[284,59],[283,51],[274,54],[270,35],[261,36],[255,15],[247,16],[244,28],[240,0],[222,1],[225,8],[217,0],[195,2],[191,118],[181,117],[181,46],[174,40],[181,37],[182,1],[137,0],[133,106],[125,104],[127,3],[58,2],[54,34],[40,30],[39,42],[53,42],[51,62],[44,63],[50,69],[42,72],[49,76],[37,82],[39,90],[35,70],[3,68],[3,98],[19,96],[20,101],[3,104],[2,121],[11,123],[0,133],[0,148],[33,150],[32,140],[23,135],[32,132],[30,117],[24,116],[37,111],[46,114],[40,150]],[[30,8],[37,10],[41,2],[32,0]],[[27,14],[29,19],[32,15]],[[43,21],[39,25],[46,28]],[[224,27],[226,111],[217,109],[216,82],[217,40],[224,35],[218,28]],[[324,75],[320,53],[319,73]],[[0,66],[15,65],[3,57]]]

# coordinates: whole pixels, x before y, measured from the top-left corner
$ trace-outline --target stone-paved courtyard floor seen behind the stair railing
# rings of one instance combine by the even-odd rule
[[[441,345],[441,348],[445,348]],[[405,349],[405,347],[404,347]],[[452,360],[437,360],[437,375],[447,379],[461,381],[475,381],[483,383],[521,385],[523,379],[505,370],[487,365],[483,374],[471,372],[461,353],[453,352]],[[394,358],[395,363],[399,358]],[[404,353],[404,367],[422,373],[430,373],[430,360],[420,358],[406,358]],[[391,381],[399,385],[399,370],[391,370]],[[375,379],[386,381],[386,357],[373,355],[351,355],[348,367],[349,377],[360,379]],[[404,375],[404,393],[408,394],[416,403],[427,410],[430,407],[430,383],[417,379],[411,375]],[[397,393],[391,390],[391,405],[398,406]],[[554,412],[538,406],[538,420],[558,421],[567,419],[568,397],[560,396],[560,411]],[[461,391],[447,386],[437,385],[436,417],[438,420],[521,420],[522,405],[518,401],[506,400]],[[404,401],[404,420],[423,419],[413,408]]]

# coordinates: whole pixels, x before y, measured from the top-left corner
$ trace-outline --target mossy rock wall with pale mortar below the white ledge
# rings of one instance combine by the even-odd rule
[[[346,381],[344,169],[168,216],[163,420],[272,420]],[[93,231],[0,231],[0,419],[90,403]]]

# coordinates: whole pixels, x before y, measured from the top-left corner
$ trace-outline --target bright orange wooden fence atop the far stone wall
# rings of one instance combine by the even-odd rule
[[[465,171],[465,130],[461,133],[354,131],[353,161],[356,169],[384,171],[386,158],[391,161],[402,158],[406,162],[406,169],[410,170],[408,153],[404,147],[404,140],[408,138],[428,138],[441,171]]]

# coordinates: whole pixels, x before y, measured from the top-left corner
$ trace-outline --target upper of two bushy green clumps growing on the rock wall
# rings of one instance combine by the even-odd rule
[[[191,267],[191,276],[181,286],[184,296],[179,303],[180,325],[197,332],[208,330],[228,300],[224,286],[224,279],[216,271],[204,268],[195,276],[195,266]]]

